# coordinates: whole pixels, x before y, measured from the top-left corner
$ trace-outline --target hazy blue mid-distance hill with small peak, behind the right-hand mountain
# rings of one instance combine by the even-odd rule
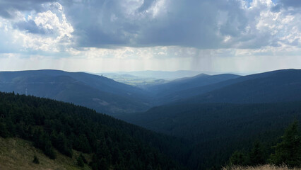
[[[235,74],[198,74],[194,77],[175,79],[165,84],[148,86],[147,89],[148,91],[151,91],[153,95],[155,95],[157,103],[170,103],[182,98],[188,98],[188,91],[191,91],[191,96],[195,96],[199,94],[196,88],[201,89],[203,86],[216,84],[220,81],[236,79],[238,77],[240,76]],[[185,92],[183,93],[183,91]]]

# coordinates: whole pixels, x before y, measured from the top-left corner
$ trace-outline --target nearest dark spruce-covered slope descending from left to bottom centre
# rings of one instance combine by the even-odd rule
[[[188,149],[175,137],[124,123],[88,108],[33,96],[0,93],[0,136],[30,140],[49,158],[91,154],[93,169],[184,169]],[[79,159],[84,159],[80,157]]]

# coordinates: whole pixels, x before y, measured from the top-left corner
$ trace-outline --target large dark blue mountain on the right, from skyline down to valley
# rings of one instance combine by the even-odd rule
[[[273,146],[286,125],[301,120],[299,69],[252,74],[192,89],[203,94],[119,118],[194,142],[192,155],[197,156],[189,164],[195,169],[221,166],[232,152],[252,146],[256,139]]]

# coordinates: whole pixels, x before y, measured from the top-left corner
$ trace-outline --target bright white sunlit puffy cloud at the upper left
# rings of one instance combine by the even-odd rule
[[[11,19],[0,17],[0,52],[47,55],[71,50],[73,27],[63,6],[57,2],[40,6],[39,12],[16,11]]]

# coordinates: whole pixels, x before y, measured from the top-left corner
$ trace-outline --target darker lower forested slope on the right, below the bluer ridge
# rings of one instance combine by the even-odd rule
[[[175,103],[151,108],[145,113],[124,115],[122,119],[191,140],[194,149],[189,166],[206,169],[225,164],[232,152],[252,147],[254,140],[272,146],[289,123],[301,120],[301,102]]]

